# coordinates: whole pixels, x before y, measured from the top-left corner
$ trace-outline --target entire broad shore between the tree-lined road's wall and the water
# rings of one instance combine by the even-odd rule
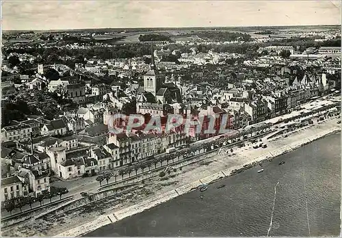
[[[274,137],[267,141],[267,148],[253,149],[248,144],[243,148],[234,148],[233,155],[222,151],[220,155],[203,159],[198,163],[183,166],[183,170],[172,172],[166,178],[150,178],[145,186],[116,199],[103,199],[89,206],[51,215],[39,220],[27,221],[2,230],[3,236],[53,236],[78,237],[96,228],[105,226],[124,217],[140,213],[157,204],[166,202],[188,192],[192,187],[209,183],[220,177],[229,176],[232,170],[239,169],[254,161],[262,161],[287,153],[328,133],[340,131],[337,118],[321,124],[317,122],[306,128],[292,131],[288,137]],[[144,200],[136,204],[137,200]],[[82,225],[81,225],[82,224]],[[81,225],[81,226],[80,226]],[[58,235],[57,235],[58,234]]]

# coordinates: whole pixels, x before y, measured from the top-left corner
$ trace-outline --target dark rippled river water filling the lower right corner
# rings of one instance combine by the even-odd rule
[[[340,142],[341,133],[329,135],[267,161],[261,173],[251,168],[86,236],[337,236]]]

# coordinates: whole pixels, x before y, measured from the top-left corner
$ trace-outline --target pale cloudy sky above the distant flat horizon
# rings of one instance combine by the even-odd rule
[[[341,1],[2,1],[3,30],[341,25]]]

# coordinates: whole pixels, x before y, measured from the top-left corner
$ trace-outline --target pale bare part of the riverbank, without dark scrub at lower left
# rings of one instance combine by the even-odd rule
[[[214,157],[205,159],[205,161],[201,161],[196,165],[190,165],[189,168],[184,169],[183,172],[180,172],[175,176],[170,176],[168,179],[161,180],[159,178],[159,183],[155,183],[155,186],[146,184],[146,186],[152,186],[154,189],[159,189],[159,195],[147,198],[144,202],[140,202],[124,209],[119,209],[119,207],[109,209],[111,210],[111,213],[108,211],[108,213],[101,215],[98,219],[90,221],[82,226],[77,226],[64,233],[60,233],[59,235],[56,235],[56,237],[77,237],[85,235],[86,233],[96,230],[101,226],[122,220],[124,217],[140,213],[146,209],[155,207],[162,202],[176,198],[176,196],[185,194],[198,187],[198,185],[218,181],[218,179],[224,178],[225,176],[231,176],[234,170],[239,170],[241,168],[246,169],[248,168],[248,165],[253,163],[256,164],[259,161],[271,159],[278,155],[288,153],[295,148],[303,146],[304,144],[308,144],[314,140],[324,137],[325,135],[340,130],[341,128],[337,124],[337,119],[332,119],[324,122],[323,124],[315,124],[307,127],[306,129],[293,131],[289,137],[275,137],[274,139],[267,141],[268,147],[265,149],[253,149],[251,145],[247,145],[247,148],[236,148],[235,155],[228,156],[225,153],[215,155]],[[218,168],[222,170],[218,171]],[[193,172],[190,173],[189,171]],[[189,183],[191,178],[193,178],[193,180]],[[181,183],[181,181],[183,183]],[[165,191],[166,189],[169,191]]]

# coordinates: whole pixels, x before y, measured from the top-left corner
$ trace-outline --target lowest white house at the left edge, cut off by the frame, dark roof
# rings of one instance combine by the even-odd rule
[[[18,176],[10,176],[1,179],[1,201],[27,195],[27,186],[22,183]]]

